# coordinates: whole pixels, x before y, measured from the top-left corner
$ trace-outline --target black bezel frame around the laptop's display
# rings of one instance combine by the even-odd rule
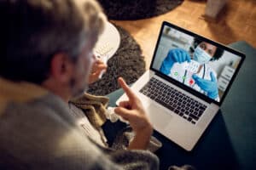
[[[153,68],[154,59],[155,59],[155,56],[156,56],[156,53],[157,53],[157,50],[158,50],[158,47],[159,47],[160,39],[161,39],[161,36],[162,36],[162,33],[163,33],[163,30],[164,30],[165,26],[169,26],[171,28],[174,28],[177,31],[181,31],[181,32],[183,32],[185,34],[188,34],[189,36],[192,36],[192,37],[195,37],[195,38],[199,38],[199,39],[201,39],[204,42],[212,43],[212,45],[215,45],[218,48],[222,48],[222,49],[230,52],[231,54],[236,54],[237,56],[239,56],[241,58],[241,60],[239,62],[239,65],[237,66],[236,71],[235,71],[233,77],[231,77],[231,80],[230,80],[227,88],[225,89],[224,94],[221,97],[221,99],[219,100],[219,102],[216,101],[215,99],[211,99],[211,98],[207,97],[205,94],[201,94],[200,92],[196,91],[193,88],[189,88],[188,86],[184,85],[182,82],[178,82],[177,80],[173,79],[172,77],[169,77],[169,76],[167,76],[167,75],[165,75],[165,74],[161,73],[160,71],[158,71],[158,70]],[[175,26],[175,25],[173,25],[173,24],[171,24],[171,23],[169,23],[167,21],[163,21],[162,26],[160,28],[159,37],[158,37],[157,43],[156,43],[155,48],[154,48],[154,55],[153,55],[153,59],[152,59],[151,64],[150,64],[150,70],[154,71],[157,76],[162,77],[162,78],[166,79],[169,82],[172,82],[173,84],[177,85],[179,88],[185,89],[186,91],[188,91],[191,94],[194,94],[198,98],[203,99],[203,100],[207,101],[208,103],[214,103],[214,104],[220,106],[220,105],[222,105],[222,103],[224,101],[224,98],[228,94],[228,92],[230,90],[230,87],[231,87],[232,83],[234,82],[234,80],[236,78],[236,75],[237,75],[238,71],[240,70],[241,64],[243,63],[245,57],[246,57],[245,54],[242,54],[241,52],[239,52],[239,51],[237,51],[237,50],[235,50],[233,48],[227,47],[224,44],[221,44],[220,42],[212,41],[212,40],[208,39],[207,37],[202,37],[202,36],[192,32],[192,31],[185,30],[182,27]]]

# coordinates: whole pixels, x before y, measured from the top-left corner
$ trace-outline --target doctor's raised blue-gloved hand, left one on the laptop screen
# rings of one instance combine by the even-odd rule
[[[167,56],[166,59],[162,62],[160,66],[160,71],[166,75],[170,74],[170,70],[172,69],[172,65],[176,62],[178,63],[183,63],[185,61],[190,62],[190,55],[187,51],[185,51],[182,48],[176,48],[176,49],[171,49]]]

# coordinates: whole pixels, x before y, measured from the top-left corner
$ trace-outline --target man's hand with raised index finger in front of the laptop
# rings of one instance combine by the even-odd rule
[[[114,112],[130,122],[132,130],[136,134],[129,144],[128,149],[145,150],[153,133],[152,124],[149,122],[141,100],[131,91],[131,88],[129,88],[123,78],[119,78],[118,81],[129,99],[127,101],[121,101]]]

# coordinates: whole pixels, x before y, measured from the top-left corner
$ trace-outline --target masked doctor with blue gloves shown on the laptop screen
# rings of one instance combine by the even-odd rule
[[[198,45],[191,57],[182,48],[171,49],[160,65],[160,71],[219,101],[217,74],[208,62],[219,59],[224,50],[208,42],[195,42]]]

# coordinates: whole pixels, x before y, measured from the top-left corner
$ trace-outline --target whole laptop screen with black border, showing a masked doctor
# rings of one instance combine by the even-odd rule
[[[244,55],[164,22],[151,69],[221,103]]]

